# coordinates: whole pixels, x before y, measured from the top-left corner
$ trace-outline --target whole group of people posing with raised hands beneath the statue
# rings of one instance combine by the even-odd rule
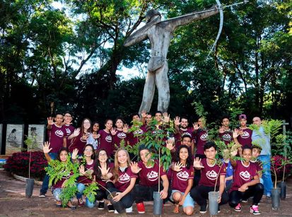
[[[175,117],[175,134],[165,140],[165,146],[170,150],[172,164],[168,170],[152,159],[152,151],[147,146],[139,146],[139,162],[130,158],[124,143],[134,146],[139,136],[148,130],[148,125],[156,119],[157,127],[163,129],[163,124],[170,122],[168,113],[156,112],[151,114],[142,112],[132,115],[133,124],[142,123],[129,130],[128,124],[122,118],[105,120],[105,129],[100,129],[98,122],[83,119],[81,127],[74,128],[69,113],[58,114],[47,119],[49,141],[44,144],[43,151],[47,160],[59,160],[66,163],[69,159],[76,161],[86,159],[79,169],[76,198],[78,206],[93,206],[105,209],[105,199],[111,192],[117,192],[112,201],[121,201],[126,212],[132,212],[135,201],[139,213],[145,213],[144,201],[153,200],[153,192],[160,191],[163,203],[171,201],[174,212],[187,215],[194,213],[194,204],[200,206],[200,213],[206,213],[208,194],[211,191],[219,193],[218,204],[229,203],[235,211],[241,211],[240,203],[247,202],[252,197],[250,213],[259,215],[259,201],[263,194],[271,197],[270,158],[271,147],[269,135],[265,134],[261,119],[254,117],[253,124],[259,130],[252,131],[247,127],[246,115],[239,116],[238,129],[230,129],[229,118],[222,117],[222,126],[218,129],[218,138],[226,146],[234,142],[238,145],[231,153],[231,157],[216,158],[218,147],[214,141],[208,139],[204,118],[199,118],[189,127],[187,117]],[[113,125],[115,124],[115,127]],[[169,134],[168,134],[169,135]],[[257,146],[252,141],[260,139]],[[238,156],[234,160],[233,156]],[[70,175],[70,171],[68,171]],[[93,178],[92,178],[93,177]],[[67,177],[62,178],[52,186],[52,194],[57,200],[56,206],[62,206],[62,189]],[[95,195],[95,201],[85,198],[83,191],[91,182],[98,182],[100,188]],[[46,175],[40,189],[40,197],[45,197],[49,184]],[[158,187],[158,184],[161,185]],[[66,206],[76,209],[69,201]],[[115,211],[115,206],[107,204],[108,211]],[[116,211],[117,212],[117,211]]]

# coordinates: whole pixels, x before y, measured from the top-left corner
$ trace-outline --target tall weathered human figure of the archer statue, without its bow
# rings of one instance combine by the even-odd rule
[[[212,7],[206,11],[195,11],[183,16],[170,18],[161,21],[159,11],[151,9],[146,13],[146,25],[129,35],[124,42],[125,47],[134,45],[137,42],[146,40],[151,43],[151,59],[148,61],[148,73],[146,76],[143,100],[139,112],[151,108],[155,86],[158,89],[158,110],[166,112],[170,102],[170,90],[168,83],[168,47],[170,40],[176,28],[181,25],[187,25],[194,20],[201,20],[218,13],[218,8]]]

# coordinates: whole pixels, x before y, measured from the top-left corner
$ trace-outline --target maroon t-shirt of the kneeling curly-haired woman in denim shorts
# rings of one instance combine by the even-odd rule
[[[194,168],[182,167],[180,172],[172,171],[171,186],[173,190],[185,192],[189,180],[194,179]]]

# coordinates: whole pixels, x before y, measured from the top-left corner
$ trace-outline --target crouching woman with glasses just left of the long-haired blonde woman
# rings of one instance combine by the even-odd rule
[[[98,209],[105,209],[104,199],[107,199],[105,189],[107,189],[107,181],[112,178],[112,168],[114,168],[114,164],[110,163],[110,158],[107,156],[105,149],[98,150],[96,156],[95,180],[100,185],[100,188],[96,190],[95,199],[99,201]],[[115,211],[114,206],[110,204],[110,201],[107,204],[107,210],[109,212]]]

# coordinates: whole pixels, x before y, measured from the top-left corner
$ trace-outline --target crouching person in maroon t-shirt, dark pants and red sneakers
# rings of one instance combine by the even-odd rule
[[[135,174],[139,174],[139,184],[134,187],[137,210],[139,213],[145,213],[143,201],[153,200],[153,192],[158,192],[160,179],[163,181],[163,189],[160,191],[161,199],[168,197],[169,182],[163,166],[158,165],[158,160],[151,159],[151,152],[146,146],[140,146],[139,154],[141,161],[131,163],[131,169]],[[163,202],[165,203],[165,200]]]

